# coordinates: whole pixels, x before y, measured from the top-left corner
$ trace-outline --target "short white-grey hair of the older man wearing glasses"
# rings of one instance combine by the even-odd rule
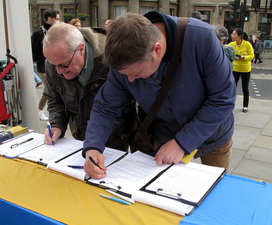
[[[59,22],[55,23],[47,31],[44,39],[44,47],[52,47],[53,44],[62,42],[68,54],[75,52],[80,43],[84,43],[81,32],[71,24]]]

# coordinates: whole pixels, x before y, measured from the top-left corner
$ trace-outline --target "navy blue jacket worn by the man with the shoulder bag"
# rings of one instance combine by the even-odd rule
[[[160,18],[164,22],[167,49],[160,73],[165,74],[176,39],[178,18],[155,11],[145,16],[151,21]],[[129,93],[148,112],[160,88],[151,77],[129,82],[125,74],[110,69],[106,83],[95,98],[84,152],[88,149],[103,152],[115,118],[120,115]],[[175,138],[187,154],[198,148],[196,157],[213,151],[232,137],[235,98],[236,86],[230,63],[213,28],[205,22],[189,18],[181,63],[168,97],[152,123],[155,139],[163,143]],[[159,121],[177,123],[179,129],[172,137],[167,137],[167,131]]]

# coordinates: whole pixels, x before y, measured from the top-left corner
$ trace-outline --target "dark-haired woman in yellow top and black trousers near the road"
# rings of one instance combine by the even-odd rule
[[[251,60],[254,58],[254,52],[250,42],[243,39],[244,32],[240,28],[235,28],[232,32],[233,42],[228,45],[234,48],[237,60],[233,61],[233,76],[235,78],[236,88],[241,77],[242,89],[244,93],[243,112],[248,110],[249,102],[249,79],[251,71]]]

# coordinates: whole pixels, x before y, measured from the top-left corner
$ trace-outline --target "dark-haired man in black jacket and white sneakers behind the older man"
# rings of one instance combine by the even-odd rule
[[[42,53],[42,40],[43,37],[46,35],[48,29],[56,22],[59,21],[59,12],[57,9],[47,9],[44,11],[45,23],[36,30],[32,35],[31,46],[32,46],[32,58],[34,62],[37,62],[37,70],[39,73],[40,78],[42,79],[42,83],[45,86],[45,57]],[[40,84],[36,85],[38,88]],[[42,95],[40,102],[39,102],[39,116],[40,120],[48,120],[47,116],[43,112],[43,108],[45,107],[47,99],[44,95]]]

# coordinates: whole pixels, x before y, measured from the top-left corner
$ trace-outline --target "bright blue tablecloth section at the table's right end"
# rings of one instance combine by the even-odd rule
[[[272,185],[226,174],[180,225],[271,225]]]

